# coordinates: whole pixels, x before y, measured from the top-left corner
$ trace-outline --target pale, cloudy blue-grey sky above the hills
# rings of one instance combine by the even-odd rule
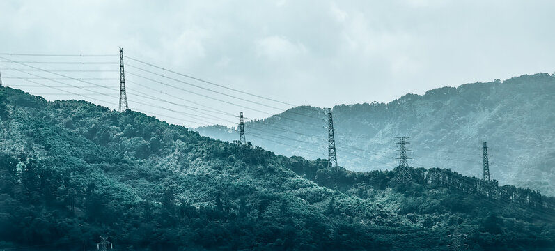
[[[291,105],[391,102],[442,86],[554,73],[553,10],[555,1],[511,0],[0,1],[0,53],[114,54],[98,59],[0,55],[0,72],[4,85],[22,86],[48,100],[85,99],[118,109],[118,47],[123,47],[125,56]],[[29,69],[13,61],[63,60],[114,64],[32,66],[106,70],[94,76],[106,79],[95,83],[102,81],[99,85],[113,92],[75,79],[40,79],[46,74],[41,71],[2,70]],[[237,118],[230,114],[243,111],[260,119],[291,107],[129,59],[125,66],[130,108],[169,123],[233,126]],[[49,78],[92,76],[84,74]],[[81,96],[10,76],[79,85],[62,89]],[[208,112],[212,119],[205,111],[201,118],[199,107],[221,114]]]

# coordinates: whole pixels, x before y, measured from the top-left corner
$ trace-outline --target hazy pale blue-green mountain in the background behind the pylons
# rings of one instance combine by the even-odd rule
[[[409,165],[482,177],[487,142],[491,177],[555,195],[555,75],[464,84],[407,94],[384,103],[333,107],[339,165],[353,171],[398,165],[395,137],[409,136]],[[248,114],[246,114],[248,116]],[[327,111],[295,107],[245,123],[247,140],[275,153],[327,158]],[[233,142],[230,128],[198,128]]]

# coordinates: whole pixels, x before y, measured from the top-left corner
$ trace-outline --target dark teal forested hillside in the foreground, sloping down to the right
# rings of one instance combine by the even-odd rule
[[[553,197],[448,169],[393,183],[386,165],[327,167],[4,87],[0,119],[0,249],[448,250],[455,232],[473,250],[555,247]]]

